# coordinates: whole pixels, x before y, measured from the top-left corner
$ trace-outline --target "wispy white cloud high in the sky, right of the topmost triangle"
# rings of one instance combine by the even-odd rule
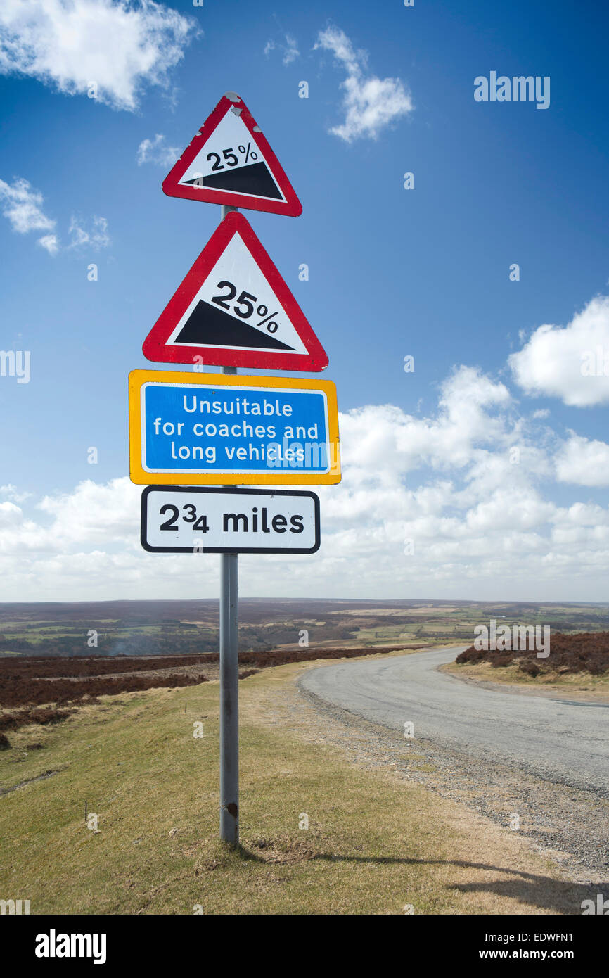
[[[368,73],[368,56],[355,51],[351,41],[338,27],[320,31],[315,48],[331,51],[342,64],[347,77],[344,89],[345,120],[329,131],[346,143],[355,139],[376,139],[382,129],[395,119],[413,111],[413,100],[400,78],[378,78]]]

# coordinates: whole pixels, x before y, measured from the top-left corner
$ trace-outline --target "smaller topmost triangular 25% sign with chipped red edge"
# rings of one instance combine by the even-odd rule
[[[169,197],[298,217],[302,204],[260,126],[227,92],[163,181]]]

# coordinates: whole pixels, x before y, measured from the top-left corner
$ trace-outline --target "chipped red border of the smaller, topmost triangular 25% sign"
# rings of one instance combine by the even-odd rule
[[[220,122],[231,109],[239,109],[239,118],[247,128],[251,139],[262,154],[268,169],[285,200],[270,200],[264,197],[239,193],[237,191],[219,190],[211,187],[189,187],[181,184],[180,180],[187,172],[197,154],[211,138]],[[196,136],[186,148],[182,156],[171,168],[162,183],[163,193],[168,197],[179,197],[183,200],[199,200],[203,203],[227,204],[242,207],[245,210],[263,210],[271,214],[283,214],[287,217],[298,217],[302,213],[302,204],[287,179],[283,166],[275,156],[267,139],[262,133],[247,106],[235,92],[227,92],[222,96],[216,108],[208,115]]]

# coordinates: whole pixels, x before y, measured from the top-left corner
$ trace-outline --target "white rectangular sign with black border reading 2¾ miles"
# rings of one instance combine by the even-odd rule
[[[320,501],[281,489],[147,486],[141,539],[154,554],[315,554]]]

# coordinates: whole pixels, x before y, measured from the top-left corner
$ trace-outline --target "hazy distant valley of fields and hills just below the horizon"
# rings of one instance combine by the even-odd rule
[[[239,650],[468,645],[474,626],[609,630],[609,605],[431,600],[239,600]],[[217,652],[217,600],[0,604],[0,657]],[[306,644],[306,645],[305,645]]]

